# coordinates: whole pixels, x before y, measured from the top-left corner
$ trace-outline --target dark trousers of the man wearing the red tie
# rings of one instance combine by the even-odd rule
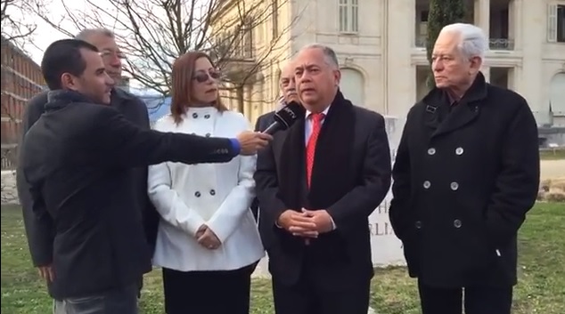
[[[367,314],[371,278],[356,285],[329,289],[317,282],[316,266],[316,262],[306,256],[299,282],[292,286],[273,277],[276,314]]]

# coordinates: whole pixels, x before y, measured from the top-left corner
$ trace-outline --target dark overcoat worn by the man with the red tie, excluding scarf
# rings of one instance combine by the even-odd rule
[[[326,288],[340,289],[343,286],[366,282],[373,277],[368,216],[389,191],[389,141],[381,115],[359,107],[354,107],[354,111],[355,142],[352,162],[343,166],[347,171],[356,173],[356,181],[359,184],[338,202],[347,200],[347,208],[340,208],[340,211],[351,211],[348,215],[350,218],[340,221],[337,229],[323,235],[323,252],[316,250],[315,254],[318,256],[314,258],[311,247],[304,246],[303,241],[293,241],[295,247],[284,245],[282,238],[288,238],[284,234],[287,231],[274,225],[282,204],[282,200],[277,196],[277,178],[281,175],[282,144],[288,131],[275,133],[274,141],[258,153],[255,179],[261,208],[259,230],[269,254],[269,270],[273,278],[281,284],[293,285],[298,282],[305,267],[305,255],[309,255],[309,261],[314,263],[307,268],[312,272],[308,276],[315,278],[315,284]],[[304,187],[306,195],[306,176],[304,182],[296,184]],[[315,241],[317,240],[320,239]],[[345,249],[340,251],[338,247]],[[330,255],[336,258],[317,259]]]

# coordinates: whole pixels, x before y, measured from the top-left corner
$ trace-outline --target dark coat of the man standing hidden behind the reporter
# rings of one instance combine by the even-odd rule
[[[47,92],[38,93],[28,102],[22,121],[22,139],[28,133],[31,125],[34,125],[45,112],[45,104],[47,103]],[[147,107],[139,98],[131,93],[127,93],[121,89],[114,89],[111,94],[111,107],[118,109],[127,120],[135,125],[149,129],[149,115]],[[21,141],[20,141],[21,142]],[[20,155],[21,157],[21,155]],[[49,228],[51,223],[40,223],[33,216],[31,195],[29,195],[29,184],[23,178],[21,170],[21,161],[18,163],[18,171],[16,172],[16,183],[18,189],[18,197],[22,206],[24,225],[26,232],[29,234],[31,229]],[[151,204],[147,196],[147,167],[137,167],[129,170],[131,188],[134,190],[130,200],[130,206],[139,210],[143,214],[143,226],[145,229],[145,238],[150,246],[151,252],[155,246],[157,238],[157,227],[159,226],[159,214]],[[48,217],[46,218],[48,219]],[[39,222],[39,223],[36,223]],[[47,230],[41,230],[39,233],[45,234]],[[37,241],[44,243],[29,243],[30,249],[37,252],[36,255],[50,256],[51,254],[38,252],[38,247],[49,247],[51,238],[38,238]],[[41,258],[40,260],[45,260]],[[36,263],[37,265],[37,263]],[[151,265],[147,265],[147,270],[151,270]]]

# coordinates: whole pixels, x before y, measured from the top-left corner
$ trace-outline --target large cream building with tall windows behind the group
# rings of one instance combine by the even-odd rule
[[[270,12],[262,24],[243,34],[242,52],[261,52],[281,38],[276,53],[263,60],[260,79],[246,86],[242,100],[253,120],[272,110],[283,60],[300,47],[321,43],[338,54],[341,90],[356,105],[392,117],[405,117],[415,101],[428,92],[426,59],[428,0],[300,0],[226,2],[216,26],[237,15],[245,6]],[[253,4],[250,4],[253,3]],[[564,0],[465,0],[467,22],[484,29],[489,38],[483,73],[493,85],[523,95],[540,125],[547,123],[549,104],[553,124],[565,126],[565,1]],[[228,5],[229,4],[229,5]],[[269,11],[271,10],[271,11]],[[249,42],[249,44],[248,44]],[[242,61],[234,62],[239,66]],[[231,97],[233,99],[233,95]],[[250,110],[247,110],[247,109]]]

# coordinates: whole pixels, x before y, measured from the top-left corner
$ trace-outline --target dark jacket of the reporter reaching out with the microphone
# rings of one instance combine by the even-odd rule
[[[38,226],[29,229],[32,258],[53,265],[55,299],[134,285],[147,270],[151,252],[131,205],[131,168],[226,162],[239,153],[228,139],[137,127],[82,96],[58,97],[45,109],[20,160]]]

